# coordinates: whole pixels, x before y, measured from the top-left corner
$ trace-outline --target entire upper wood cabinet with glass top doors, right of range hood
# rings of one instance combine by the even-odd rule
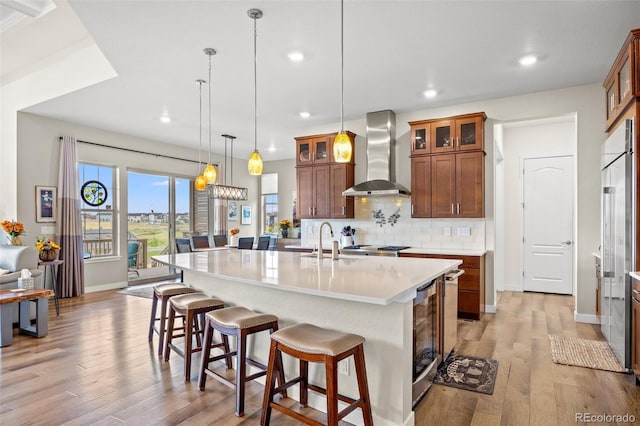
[[[484,217],[484,112],[412,121],[411,217]],[[427,136],[428,148],[418,149]]]

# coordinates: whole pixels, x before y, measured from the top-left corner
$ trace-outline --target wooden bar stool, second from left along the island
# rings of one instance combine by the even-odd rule
[[[222,300],[214,299],[204,293],[191,293],[173,296],[169,299],[169,319],[167,320],[167,338],[164,346],[164,360],[169,361],[171,350],[174,350],[184,359],[184,379],[191,380],[191,355],[202,351],[204,346],[200,340],[201,328],[198,327],[198,319],[204,322],[203,314],[214,309],[224,308]],[[185,324],[182,334],[174,334],[174,323],[176,315],[184,315]],[[193,347],[193,333],[195,328],[196,347]],[[184,337],[184,350],[173,344],[175,337]],[[229,350],[228,341],[223,336],[223,342],[215,344],[214,347],[224,346],[225,351]],[[211,346],[211,341],[208,343]]]

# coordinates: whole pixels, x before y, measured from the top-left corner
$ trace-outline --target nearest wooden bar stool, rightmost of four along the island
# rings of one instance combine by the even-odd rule
[[[371,414],[371,400],[367,385],[367,369],[364,362],[364,337],[356,334],[327,330],[311,324],[297,324],[271,335],[271,349],[269,351],[269,365],[267,369],[266,389],[262,402],[260,425],[269,424],[271,409],[294,417],[306,424],[320,424],[315,420],[300,414],[273,401],[273,396],[290,386],[300,383],[300,405],[307,406],[308,390],[322,393],[327,397],[327,424],[337,426],[338,422],[357,408],[362,409],[364,424],[373,425]],[[300,360],[300,375],[280,387],[275,387],[275,373],[280,369],[282,361],[276,361],[284,352]],[[338,362],[353,355],[356,376],[358,379],[359,399],[349,398],[338,394]],[[309,362],[323,362],[326,369],[327,388],[312,385],[308,380]],[[279,372],[278,372],[279,373]],[[282,383],[282,382],[281,382]],[[349,404],[338,412],[338,400]]]

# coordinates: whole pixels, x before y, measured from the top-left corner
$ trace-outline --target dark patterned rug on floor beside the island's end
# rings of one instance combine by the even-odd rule
[[[433,383],[492,395],[497,374],[495,359],[452,353],[438,367]]]

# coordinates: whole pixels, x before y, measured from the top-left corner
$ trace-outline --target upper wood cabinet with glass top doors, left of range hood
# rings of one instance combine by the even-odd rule
[[[354,217],[354,199],[342,191],[354,185],[355,134],[347,132],[354,146],[349,163],[333,161],[336,133],[296,138],[296,219],[348,219]],[[324,154],[318,155],[319,152]],[[328,150],[328,151],[324,151]]]

